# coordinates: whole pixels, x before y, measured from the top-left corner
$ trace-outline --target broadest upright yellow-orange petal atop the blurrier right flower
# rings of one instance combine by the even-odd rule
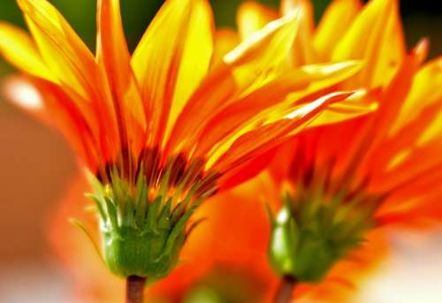
[[[392,80],[404,56],[397,1],[373,0],[354,20],[331,59],[365,60],[365,69],[349,85],[377,87]]]

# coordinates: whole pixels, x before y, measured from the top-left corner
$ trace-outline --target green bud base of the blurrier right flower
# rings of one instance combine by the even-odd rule
[[[372,226],[377,197],[324,197],[321,188],[298,186],[271,217],[269,259],[280,276],[318,283],[331,267],[360,246]]]

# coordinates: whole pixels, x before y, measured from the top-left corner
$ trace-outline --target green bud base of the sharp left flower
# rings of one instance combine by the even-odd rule
[[[153,191],[141,174],[134,186],[119,178],[117,170],[107,185],[90,176],[95,193],[89,197],[99,214],[103,261],[113,274],[146,277],[152,283],[177,265],[187,238],[187,221],[199,200],[195,201],[194,190],[182,199],[165,199],[168,178],[166,173],[155,197],[149,199]]]

